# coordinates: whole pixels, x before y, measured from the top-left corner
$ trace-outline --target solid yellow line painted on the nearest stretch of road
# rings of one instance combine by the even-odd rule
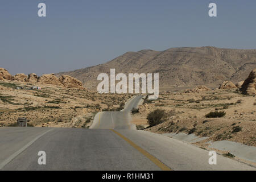
[[[169,168],[168,166],[166,166],[166,164],[160,162],[160,160],[156,159],[154,156],[152,156],[150,153],[148,153],[143,148],[137,146],[137,144],[133,143],[130,139],[126,138],[125,136],[123,136],[122,134],[118,133],[117,131],[115,131],[113,129],[110,129],[110,130],[112,130],[115,134],[117,134],[122,139],[126,140],[127,143],[129,143],[131,146],[133,146],[135,149],[137,149],[139,152],[141,152],[141,154],[143,154],[148,159],[150,159],[154,164],[156,164],[156,166],[158,166],[163,171],[172,171],[172,169]]]

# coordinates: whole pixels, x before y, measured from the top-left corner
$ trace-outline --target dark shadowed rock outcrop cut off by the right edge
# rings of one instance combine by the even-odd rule
[[[256,94],[256,68],[250,72],[240,88],[242,94],[255,95]]]

